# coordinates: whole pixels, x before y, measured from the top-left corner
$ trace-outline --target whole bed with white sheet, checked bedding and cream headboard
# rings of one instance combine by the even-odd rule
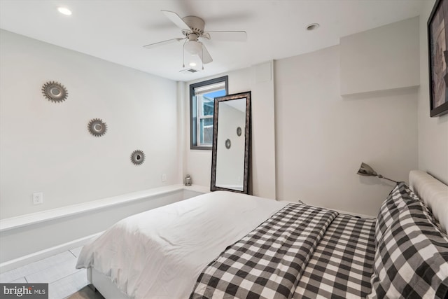
[[[447,298],[448,186],[412,171],[377,218],[216,191],[84,246],[105,298]]]

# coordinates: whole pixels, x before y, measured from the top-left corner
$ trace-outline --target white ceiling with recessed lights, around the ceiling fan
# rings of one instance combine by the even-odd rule
[[[341,36],[419,15],[428,0],[0,0],[0,28],[175,81],[190,81],[334,46]],[[62,15],[65,6],[73,14]],[[244,30],[244,43],[205,41],[214,62],[182,69],[183,37],[161,10],[205,21],[205,31]],[[305,27],[321,26],[315,31]],[[1,42],[1,41],[0,41]],[[186,60],[190,55],[186,54]]]

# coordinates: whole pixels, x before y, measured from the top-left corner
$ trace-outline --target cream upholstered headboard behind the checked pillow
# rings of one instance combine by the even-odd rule
[[[446,233],[448,228],[448,186],[421,170],[409,172],[409,187],[433,212]]]

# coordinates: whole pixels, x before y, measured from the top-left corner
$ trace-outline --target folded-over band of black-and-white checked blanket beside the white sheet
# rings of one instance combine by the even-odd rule
[[[211,262],[190,298],[291,298],[336,216],[336,211],[288,204]]]

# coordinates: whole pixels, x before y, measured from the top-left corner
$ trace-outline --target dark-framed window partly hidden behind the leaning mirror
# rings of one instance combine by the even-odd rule
[[[190,148],[209,149],[213,145],[215,97],[228,94],[228,76],[190,85]]]

